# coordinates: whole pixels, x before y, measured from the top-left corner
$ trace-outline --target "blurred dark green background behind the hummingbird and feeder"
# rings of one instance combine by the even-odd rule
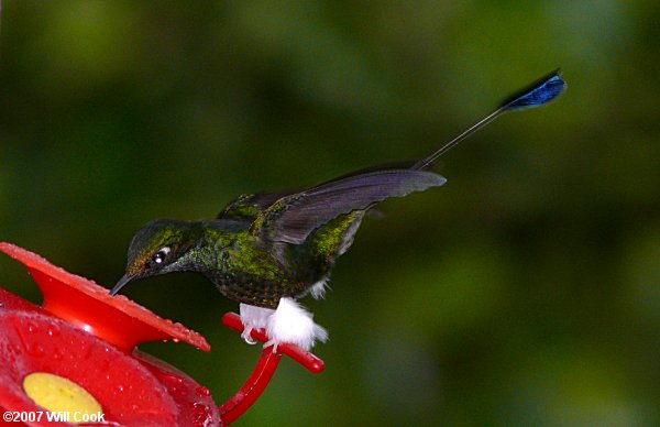
[[[314,376],[240,420],[660,424],[660,2],[2,3],[0,240],[111,286],[132,234],[428,154],[561,66],[568,92],[443,157],[338,263]],[[40,300],[0,258],[1,284]],[[229,398],[260,350],[178,274],[127,294],[213,347],[143,349]]]

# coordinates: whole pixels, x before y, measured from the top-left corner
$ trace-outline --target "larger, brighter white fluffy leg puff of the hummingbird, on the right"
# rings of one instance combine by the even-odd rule
[[[309,350],[317,340],[328,339],[328,331],[314,322],[311,313],[289,297],[279,299],[277,309],[268,317],[266,333],[270,340],[264,348],[274,346],[273,351],[284,342]]]

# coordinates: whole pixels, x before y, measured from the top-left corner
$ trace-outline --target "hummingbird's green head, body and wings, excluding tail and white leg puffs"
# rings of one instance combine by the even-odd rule
[[[195,271],[231,299],[276,308],[328,277],[373,204],[443,183],[431,172],[384,169],[305,191],[243,195],[212,220],[155,220],[133,238],[127,275],[113,293],[136,278]],[[319,193],[331,194],[331,204],[315,219]]]

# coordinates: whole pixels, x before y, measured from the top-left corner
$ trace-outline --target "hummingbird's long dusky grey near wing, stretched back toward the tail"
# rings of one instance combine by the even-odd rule
[[[428,171],[386,168],[350,174],[279,198],[256,217],[250,230],[271,241],[298,244],[340,215],[444,183],[444,177]]]

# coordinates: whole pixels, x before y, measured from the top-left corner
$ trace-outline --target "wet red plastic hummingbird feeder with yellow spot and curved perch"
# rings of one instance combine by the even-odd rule
[[[0,408],[24,424],[226,425],[263,393],[282,354],[311,372],[323,370],[320,359],[296,346],[280,344],[277,354],[270,347],[243,387],[217,406],[208,388],[135,348],[172,339],[210,351],[202,336],[24,249],[0,243],[0,251],[25,264],[44,294],[38,307],[0,288]],[[222,321],[243,330],[233,313]],[[261,330],[252,337],[268,339]]]

